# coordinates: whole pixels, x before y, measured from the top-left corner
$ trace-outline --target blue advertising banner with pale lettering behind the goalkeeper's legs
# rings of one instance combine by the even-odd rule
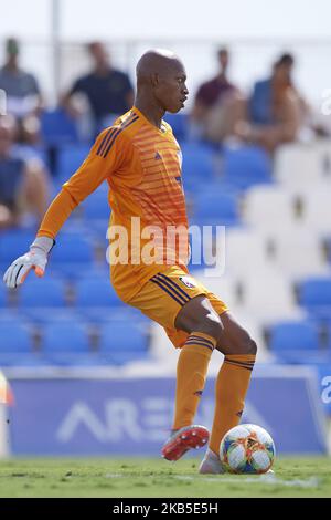
[[[258,424],[278,453],[324,453],[321,399],[313,373],[281,368],[256,375],[242,423]],[[214,379],[196,423],[212,425]],[[174,378],[11,378],[13,455],[154,456],[169,435]]]

